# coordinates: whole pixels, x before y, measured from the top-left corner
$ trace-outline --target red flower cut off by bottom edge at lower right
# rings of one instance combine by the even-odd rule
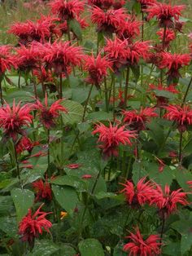
[[[129,256],[139,255],[139,256],[155,256],[161,254],[159,246],[161,243],[159,235],[148,236],[146,240],[143,240],[143,237],[138,229],[136,228],[136,233],[133,234],[130,232],[129,243],[124,245],[124,251],[129,252]]]

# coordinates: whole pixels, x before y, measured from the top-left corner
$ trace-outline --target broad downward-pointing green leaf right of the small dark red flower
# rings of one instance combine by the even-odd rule
[[[54,192],[56,201],[63,207],[63,210],[66,210],[68,214],[72,214],[79,201],[75,189],[67,186],[53,185],[52,191]]]

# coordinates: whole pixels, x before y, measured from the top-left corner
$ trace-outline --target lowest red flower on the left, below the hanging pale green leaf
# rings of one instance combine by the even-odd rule
[[[38,237],[39,234],[45,230],[50,232],[50,227],[52,223],[46,219],[47,214],[40,211],[42,205],[37,209],[35,214],[32,215],[32,210],[28,210],[28,214],[21,220],[19,224],[20,235],[22,236],[22,241],[28,241],[29,244],[33,245],[35,237]]]

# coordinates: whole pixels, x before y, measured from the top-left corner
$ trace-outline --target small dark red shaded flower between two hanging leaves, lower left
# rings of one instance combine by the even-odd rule
[[[42,179],[39,179],[33,182],[32,185],[36,192],[35,202],[42,200],[51,201],[52,191],[50,188],[50,183],[47,182],[47,179],[45,182]]]

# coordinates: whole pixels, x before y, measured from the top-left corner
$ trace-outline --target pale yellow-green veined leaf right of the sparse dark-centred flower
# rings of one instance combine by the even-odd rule
[[[81,104],[72,100],[63,100],[63,107],[68,109],[68,113],[62,113],[65,124],[75,124],[82,120],[84,108]]]

